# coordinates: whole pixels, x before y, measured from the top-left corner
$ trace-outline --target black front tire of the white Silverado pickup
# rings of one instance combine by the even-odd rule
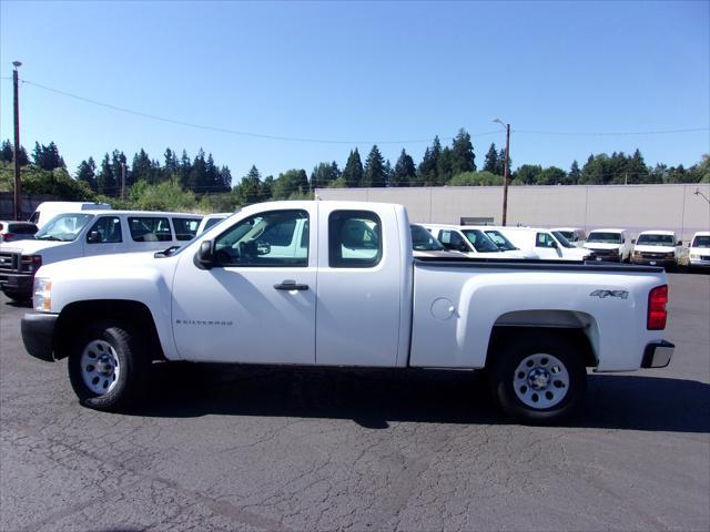
[[[81,405],[95,410],[121,411],[140,401],[145,393],[151,360],[143,352],[136,338],[129,325],[114,321],[97,321],[79,335],[69,355],[68,367],[71,386]],[[94,388],[111,380],[106,392],[98,392],[85,381],[91,376],[87,377],[88,371],[82,368],[84,354],[87,357],[93,355],[94,358],[104,354],[106,359],[111,359],[111,364],[119,368],[118,378],[113,379],[111,377],[114,377],[116,371],[104,375],[97,370],[93,374],[94,380],[99,379],[92,382]],[[84,358],[84,364],[87,361],[88,358]],[[88,367],[90,366],[91,361]]]

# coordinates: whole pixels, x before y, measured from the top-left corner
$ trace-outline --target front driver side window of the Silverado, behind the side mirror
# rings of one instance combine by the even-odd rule
[[[271,211],[250,216],[214,241],[219,266],[308,265],[308,213]]]

